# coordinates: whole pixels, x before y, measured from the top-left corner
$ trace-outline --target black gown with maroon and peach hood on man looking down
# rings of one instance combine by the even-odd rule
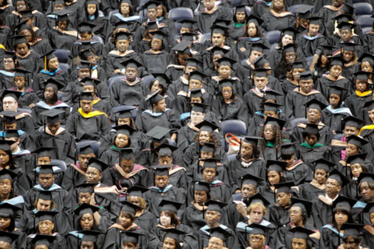
[[[129,187],[126,186],[127,182],[130,182],[131,185],[138,184],[143,187],[147,187],[148,169],[139,164],[134,164],[129,174],[131,174],[131,176],[122,176],[116,169],[116,166],[114,165],[108,167],[102,172],[101,182],[108,186],[116,185],[118,189],[122,189],[123,187]],[[122,182],[123,180],[125,180],[125,182]],[[121,184],[122,187],[119,184]]]

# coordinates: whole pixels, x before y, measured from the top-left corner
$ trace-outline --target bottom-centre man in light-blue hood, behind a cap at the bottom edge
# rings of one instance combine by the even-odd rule
[[[234,234],[234,231],[231,230],[229,227],[220,224],[220,219],[223,213],[223,207],[226,206],[227,203],[218,202],[215,200],[208,200],[208,202],[205,202],[204,205],[208,206],[208,208],[205,211],[205,221],[207,224],[201,227],[195,233],[187,234],[184,239],[183,248],[205,248],[206,246],[208,246],[208,241],[210,237],[210,233],[208,230],[215,227],[220,227],[233,235],[229,237],[226,241],[224,241],[227,248],[239,248],[239,244],[237,242],[237,238]]]

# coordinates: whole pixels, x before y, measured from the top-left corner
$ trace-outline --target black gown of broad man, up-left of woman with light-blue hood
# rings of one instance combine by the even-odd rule
[[[306,117],[306,107],[304,104],[311,101],[312,99],[317,99],[322,103],[328,105],[324,95],[321,92],[312,89],[307,94],[301,93],[298,88],[295,88],[292,92],[289,92],[286,96],[285,101],[285,115],[286,119],[295,119],[299,117]]]

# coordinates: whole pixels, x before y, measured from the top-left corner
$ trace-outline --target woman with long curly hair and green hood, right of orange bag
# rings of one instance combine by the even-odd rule
[[[285,121],[267,117],[264,128],[261,131],[260,150],[264,159],[278,160],[281,158],[281,145],[286,141],[286,135],[282,132]]]

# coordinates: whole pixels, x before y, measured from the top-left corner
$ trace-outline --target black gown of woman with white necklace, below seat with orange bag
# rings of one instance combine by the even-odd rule
[[[243,166],[242,164],[246,165]],[[232,187],[232,193],[235,190],[240,190],[242,185],[241,177],[246,174],[251,174],[257,176],[259,178],[265,179],[266,178],[266,169],[265,169],[266,161],[260,158],[254,159],[249,163],[242,162],[241,159],[235,158],[234,160],[229,162],[227,166],[227,173],[229,174],[230,178],[230,185]],[[265,183],[263,183],[264,185]]]

